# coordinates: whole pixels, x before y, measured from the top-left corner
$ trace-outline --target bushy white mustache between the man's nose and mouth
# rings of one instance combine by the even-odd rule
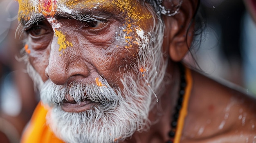
[[[80,104],[81,101],[90,99],[93,102],[99,102],[101,105],[116,104],[120,99],[120,92],[110,87],[108,82],[101,78],[103,86],[96,84],[83,84],[72,82],[70,85],[56,85],[50,79],[41,86],[40,96],[43,103],[49,106],[60,105],[67,100],[67,96]]]

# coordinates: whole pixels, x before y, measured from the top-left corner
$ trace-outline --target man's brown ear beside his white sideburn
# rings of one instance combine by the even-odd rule
[[[165,42],[168,53],[175,62],[181,61],[193,41],[194,22],[198,0],[183,0],[180,10],[173,16],[163,15],[165,28]],[[163,3],[168,4],[168,2]],[[164,7],[170,7],[165,5]]]

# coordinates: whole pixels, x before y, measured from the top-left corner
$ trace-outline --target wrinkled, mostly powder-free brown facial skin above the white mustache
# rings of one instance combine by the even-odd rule
[[[88,5],[92,3],[93,6],[97,6],[98,2],[88,3]],[[111,1],[106,1],[106,3],[106,5],[112,4]],[[86,2],[77,3],[77,5],[79,4],[84,4],[84,9],[88,7]],[[58,44],[59,37],[54,36],[52,23],[43,20],[27,30],[27,33],[29,33],[27,43],[31,49],[29,61],[38,71],[43,81],[50,78],[55,84],[63,85],[73,80],[92,82],[96,77],[101,76],[112,83],[113,86],[119,85],[118,82],[122,77],[121,73],[123,73],[119,70],[119,67],[135,62],[138,49],[136,44],[133,44],[132,48],[125,48],[125,46],[129,46],[125,41],[127,39],[116,40],[121,37],[116,32],[122,32],[121,27],[123,27],[123,24],[127,24],[128,20],[136,20],[122,18],[127,15],[119,14],[121,9],[115,10],[113,7],[118,6],[106,7],[106,11],[95,9],[92,15],[100,15],[102,20],[100,19],[100,22],[95,23],[94,27],[90,27],[90,22],[65,18],[57,19],[62,26],[56,30],[65,33],[66,41],[73,44],[62,51],[58,50],[60,46]],[[91,8],[88,7],[88,9]],[[141,9],[141,7],[137,9]],[[81,11],[81,9],[78,10]],[[73,11],[76,11],[76,9]],[[134,27],[139,26],[145,29],[145,26],[150,27],[145,23],[152,23],[152,19],[142,21],[141,23],[144,25],[139,23],[140,25],[134,25]],[[132,22],[132,24],[137,23]],[[135,31],[130,33],[130,36],[132,36],[131,41],[136,41],[135,38],[138,37]]]

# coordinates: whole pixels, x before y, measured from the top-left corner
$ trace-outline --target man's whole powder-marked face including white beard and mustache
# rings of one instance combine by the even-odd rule
[[[19,3],[31,75],[40,76],[41,99],[52,108],[48,122],[61,139],[113,142],[149,123],[152,97],[166,67],[162,23],[149,4]]]

